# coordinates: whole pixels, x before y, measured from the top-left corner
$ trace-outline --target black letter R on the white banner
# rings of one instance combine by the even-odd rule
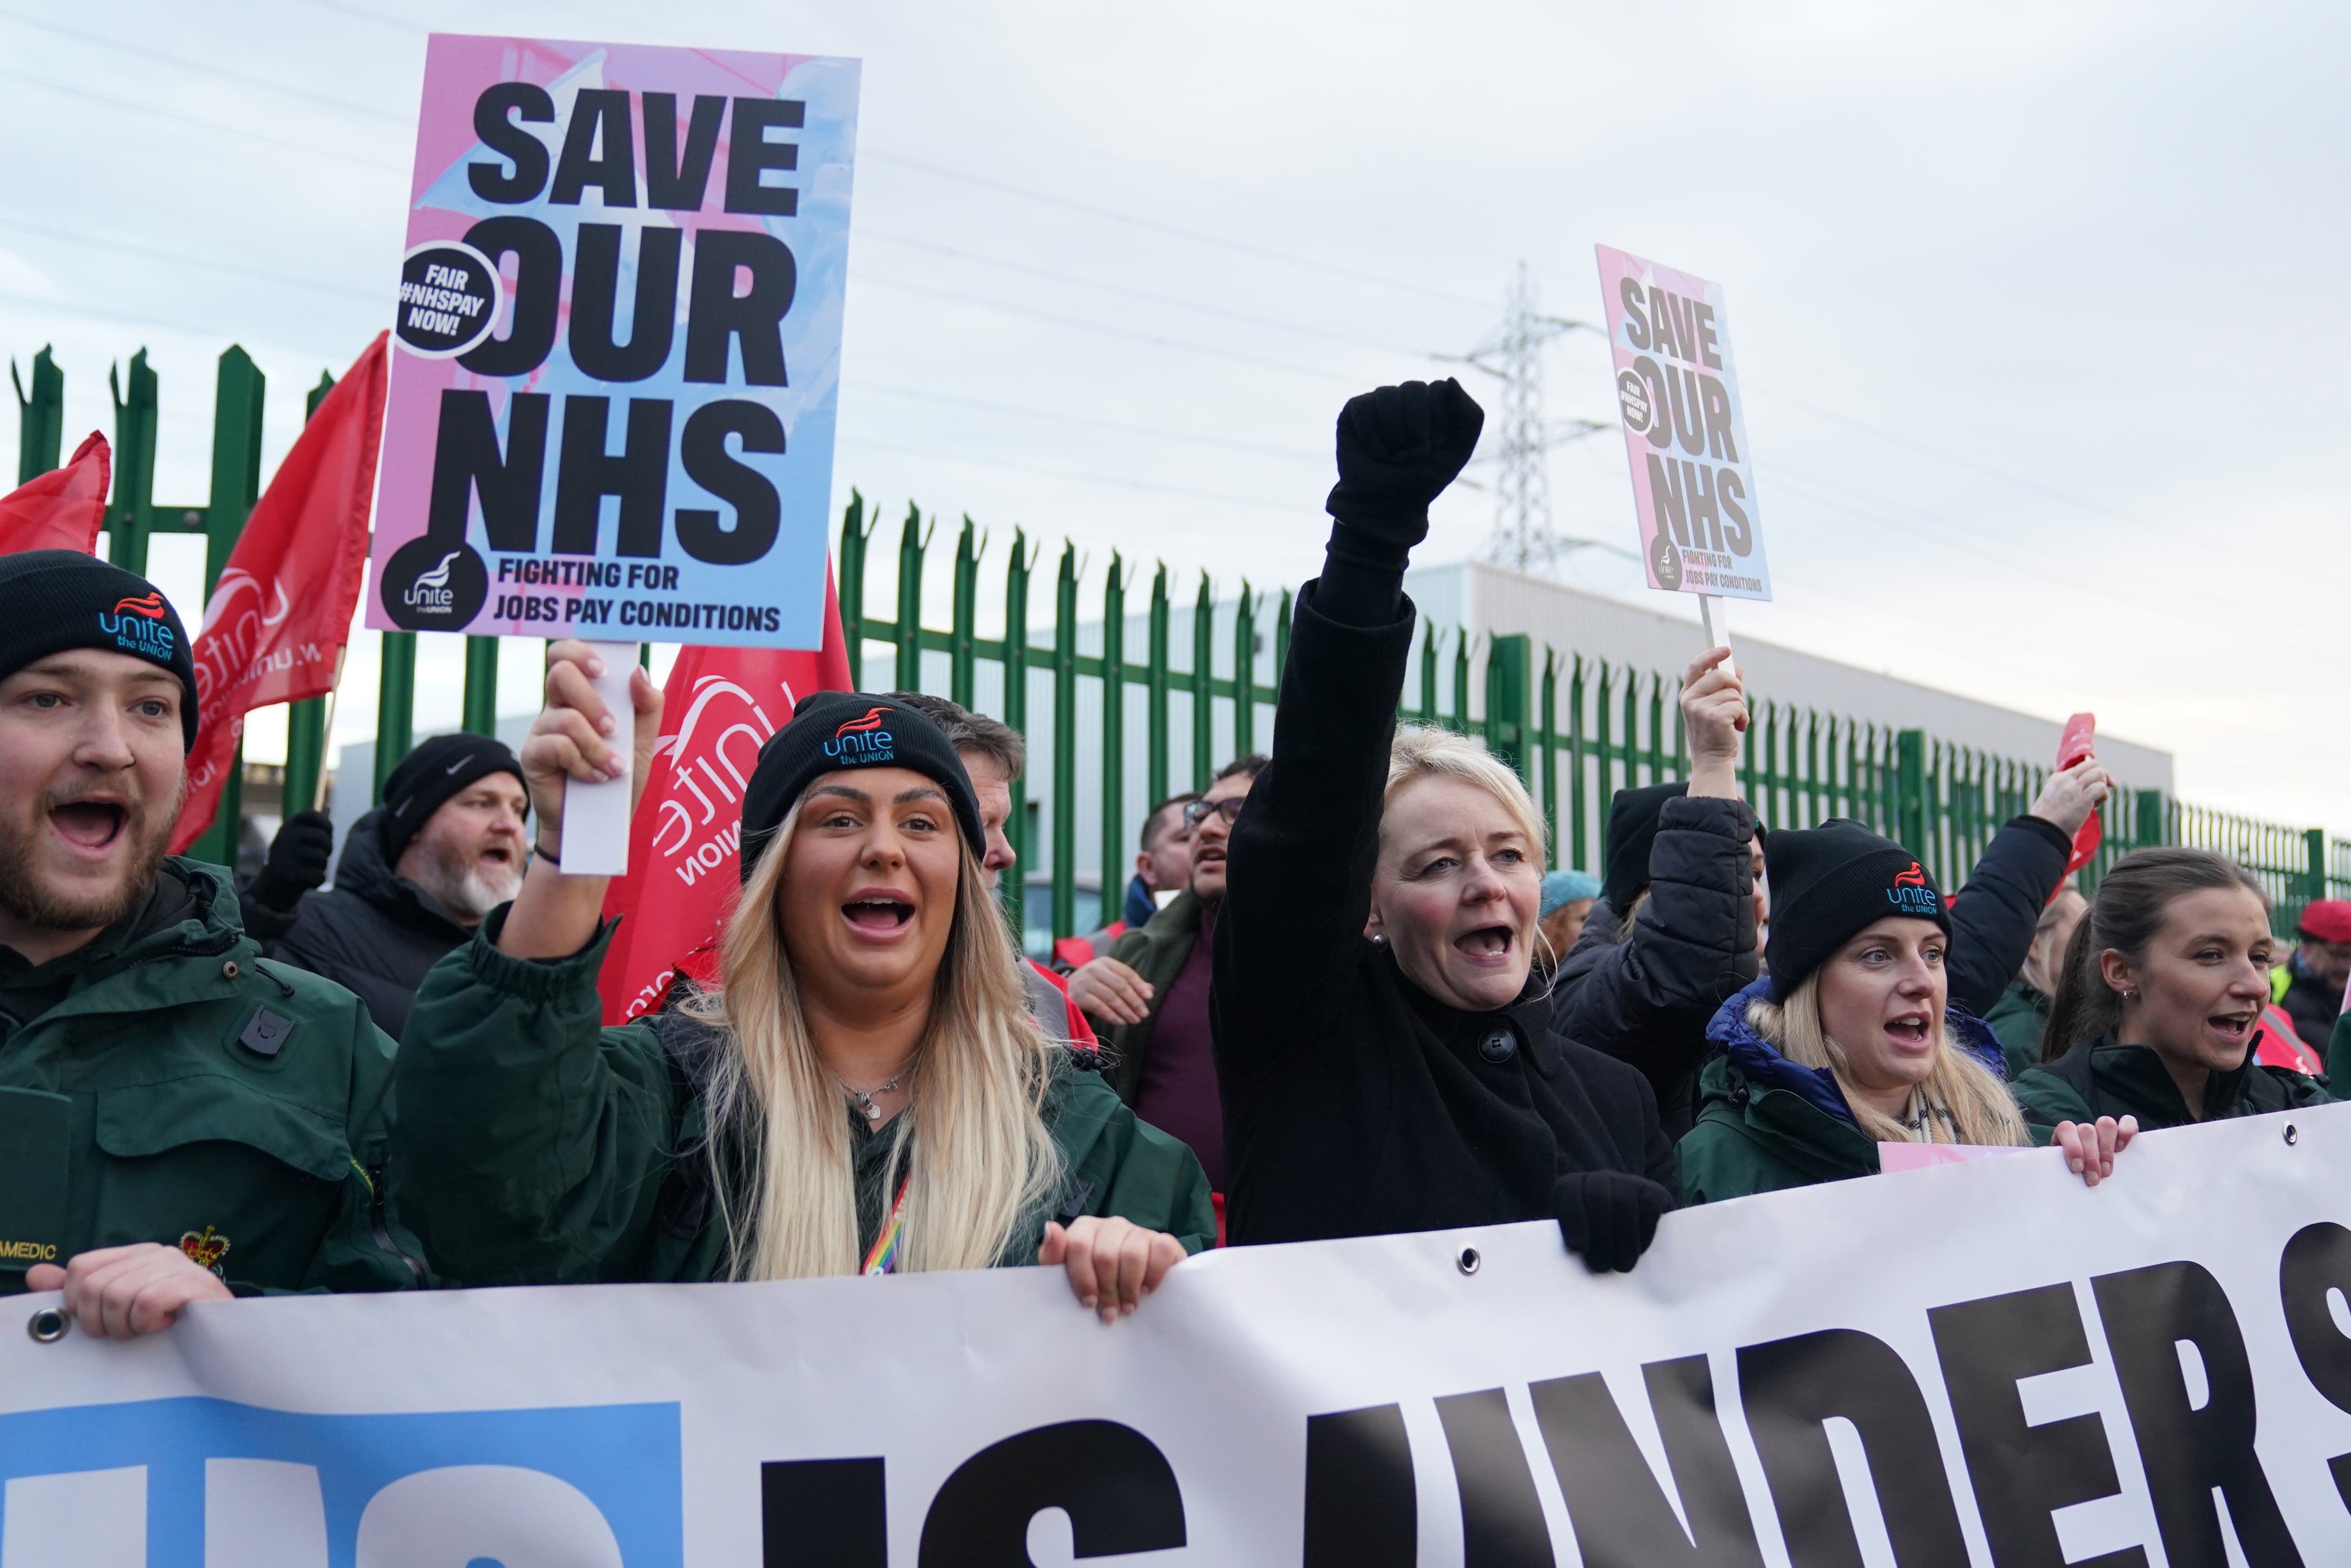
[[[2212,1490],[2219,1488],[2245,1561],[2299,1568],[2302,1552],[2252,1450],[2252,1363],[2229,1293],[2201,1262],[2099,1274],[2090,1288],[2106,1324],[2130,1432],[2139,1439],[2163,1556],[2172,1568],[2222,1568],[2229,1561],[2219,1509],[2212,1507]],[[2203,1361],[2203,1403],[2189,1399],[2182,1342]]]

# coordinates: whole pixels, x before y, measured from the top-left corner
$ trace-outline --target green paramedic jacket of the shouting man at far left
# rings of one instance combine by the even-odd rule
[[[158,877],[61,1001],[0,1018],[0,1293],[132,1241],[240,1295],[426,1284],[386,1211],[393,1041],[341,985],[254,961],[221,867]]]

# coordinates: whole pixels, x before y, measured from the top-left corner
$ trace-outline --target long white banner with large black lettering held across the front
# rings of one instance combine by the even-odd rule
[[[2351,1563],[2351,1107],[1672,1215],[0,1333],[0,1568]],[[1474,1260],[1472,1260],[1474,1248]],[[1693,1544],[1695,1535],[1695,1544]]]

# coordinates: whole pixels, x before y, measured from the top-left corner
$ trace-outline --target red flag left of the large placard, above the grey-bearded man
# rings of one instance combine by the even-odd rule
[[[202,726],[188,752],[188,804],[172,853],[212,827],[245,715],[334,686],[367,564],[367,508],[383,440],[383,336],[317,404],[205,602],[205,625],[190,646]]]

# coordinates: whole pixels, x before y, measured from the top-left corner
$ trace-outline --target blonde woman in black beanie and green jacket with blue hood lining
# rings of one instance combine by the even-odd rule
[[[1951,917],[1921,860],[1860,823],[1775,832],[1768,976],[1707,1030],[1697,1126],[1681,1140],[1683,1201],[1871,1175],[1881,1143],[2038,1143],[2008,1093],[2001,1046],[1951,1011]],[[2135,1124],[2062,1124],[2088,1182],[2114,1173]]]

